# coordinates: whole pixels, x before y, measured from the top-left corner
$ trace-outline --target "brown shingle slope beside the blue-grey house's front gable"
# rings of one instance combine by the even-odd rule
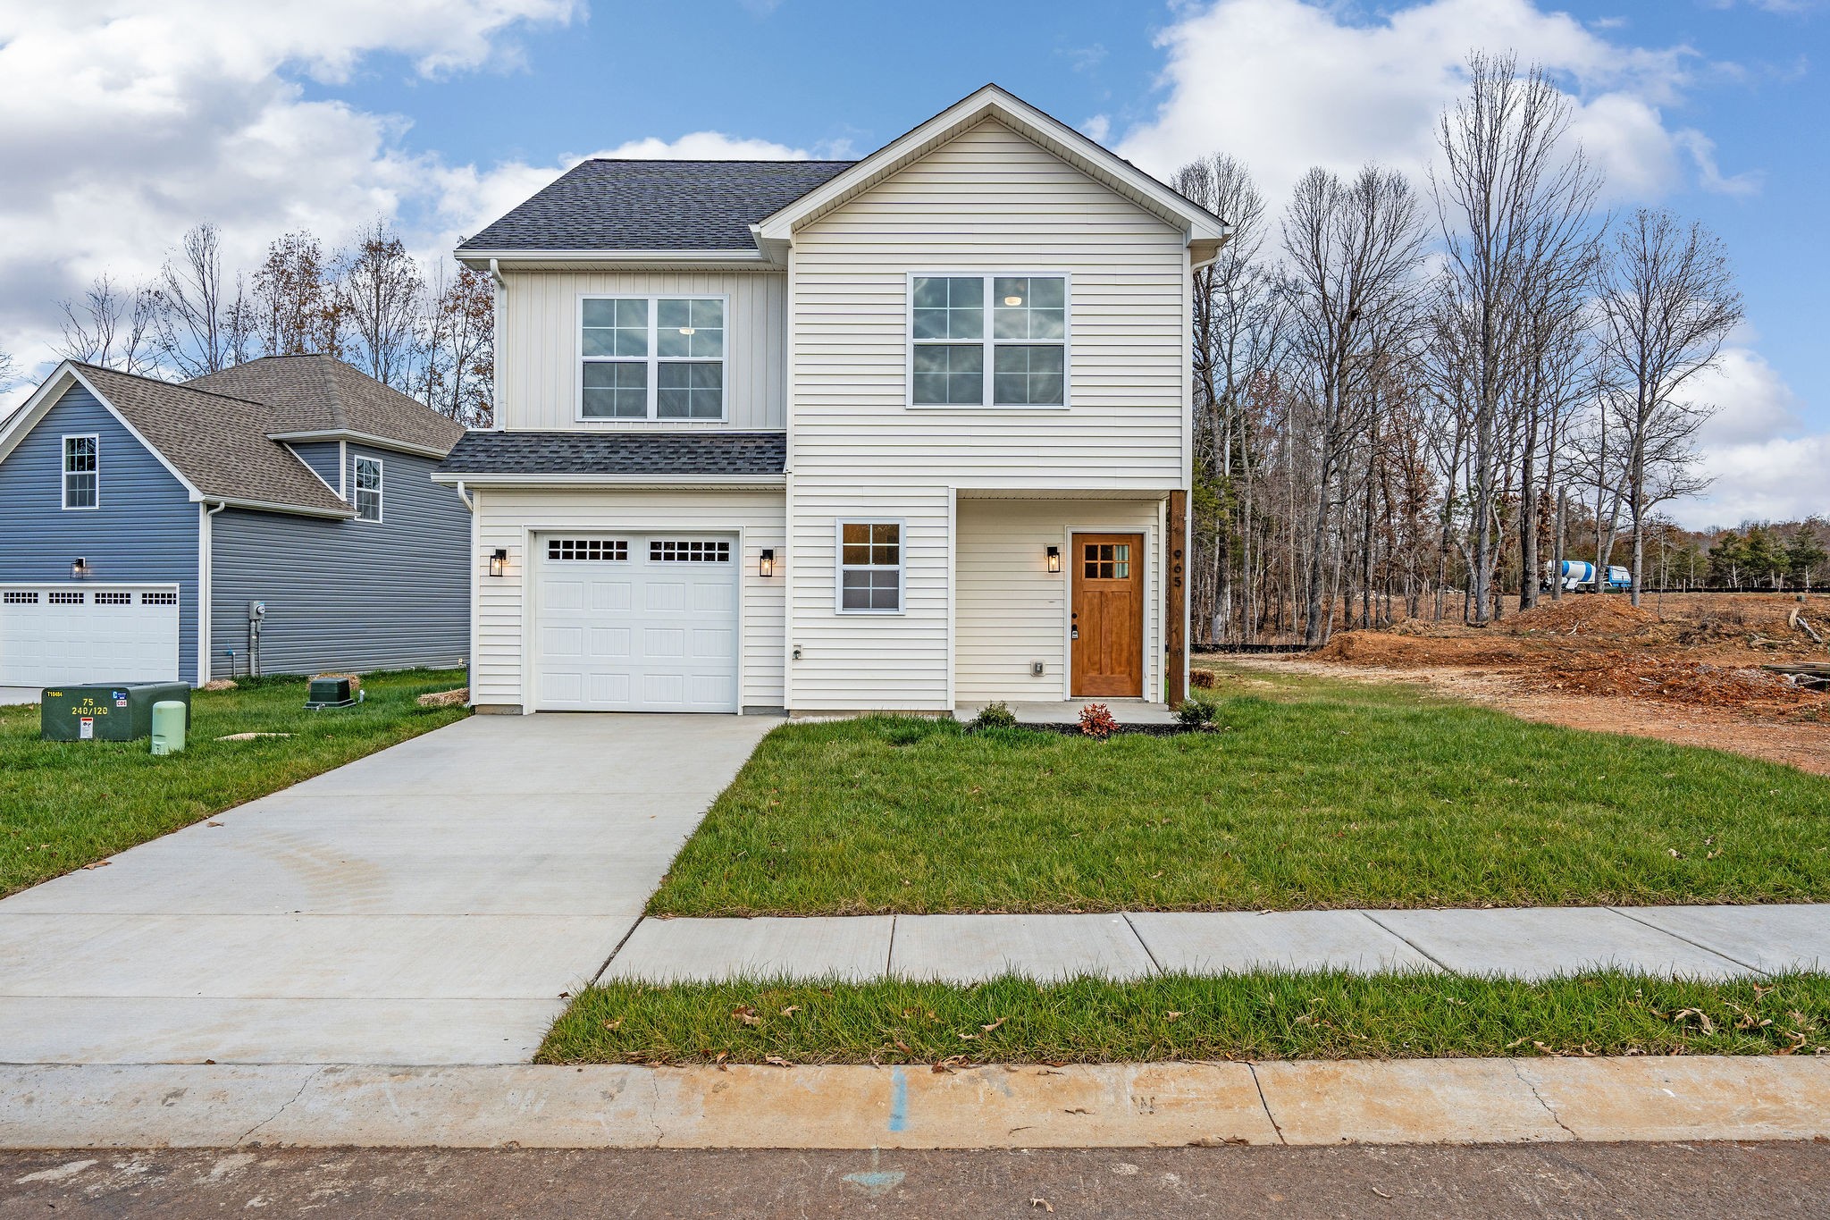
[[[350,512],[289,448],[267,439],[273,408],[265,402],[93,364],[77,368],[205,498]]]

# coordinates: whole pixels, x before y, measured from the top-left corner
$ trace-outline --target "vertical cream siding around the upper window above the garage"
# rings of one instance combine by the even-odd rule
[[[732,273],[503,273],[501,428],[522,430],[732,430],[785,426],[787,276]],[[728,296],[725,315],[725,421],[578,419],[580,296]]]

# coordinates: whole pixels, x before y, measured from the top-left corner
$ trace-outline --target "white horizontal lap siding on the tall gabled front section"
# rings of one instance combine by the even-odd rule
[[[1069,406],[908,406],[910,273],[922,271],[1065,273]],[[953,488],[1155,499],[1188,487],[1188,291],[1179,229],[990,119],[796,230],[794,710],[963,697]],[[842,519],[906,523],[902,615],[834,611]],[[1153,640],[1160,616],[1153,600]]]

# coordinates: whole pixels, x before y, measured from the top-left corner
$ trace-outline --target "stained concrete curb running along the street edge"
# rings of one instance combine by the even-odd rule
[[[0,1066],[0,1147],[1043,1149],[1830,1138],[1830,1061]]]

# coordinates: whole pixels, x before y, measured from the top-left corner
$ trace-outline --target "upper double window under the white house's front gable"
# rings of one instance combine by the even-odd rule
[[[911,276],[913,406],[1065,406],[1067,276]]]

